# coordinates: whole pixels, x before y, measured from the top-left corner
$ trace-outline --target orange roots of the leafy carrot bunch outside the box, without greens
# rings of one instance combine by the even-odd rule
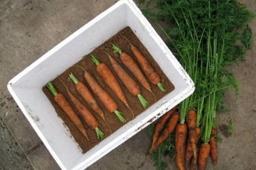
[[[200,149],[198,149],[201,127],[196,126],[197,112],[189,110],[186,123],[179,123],[179,120],[179,109],[177,107],[169,110],[160,118],[154,129],[152,146],[149,149],[150,153],[154,152],[176,129],[175,157],[179,169],[197,169],[197,163],[199,169],[205,169],[209,155],[212,157],[213,166],[216,167],[218,160],[217,129],[212,129],[208,143],[202,143]]]

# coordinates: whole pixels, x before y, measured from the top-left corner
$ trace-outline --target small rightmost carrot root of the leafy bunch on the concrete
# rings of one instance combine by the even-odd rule
[[[210,139],[210,145],[211,145],[211,157],[212,157],[212,163],[213,166],[216,167],[217,161],[218,161],[218,150],[217,150],[217,140],[216,135],[218,134],[218,130],[216,128],[212,129],[212,135]]]

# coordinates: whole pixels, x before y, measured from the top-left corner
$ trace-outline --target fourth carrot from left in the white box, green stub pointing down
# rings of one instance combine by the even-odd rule
[[[123,117],[123,113],[118,110],[118,105],[116,104],[115,100],[104,90],[101,86],[97,83],[97,81],[88,73],[83,67],[84,70],[84,77],[91,90],[95,95],[98,96],[101,103],[104,104],[105,108],[110,113],[115,113],[116,117],[118,117],[119,121],[122,123],[126,123],[126,119]]]

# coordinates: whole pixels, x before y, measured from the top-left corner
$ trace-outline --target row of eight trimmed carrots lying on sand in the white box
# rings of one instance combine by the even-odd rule
[[[118,75],[118,78],[122,81],[122,83],[130,92],[130,94],[132,94],[134,97],[137,97],[141,103],[141,106],[143,108],[146,108],[149,103],[141,94],[141,89],[137,81],[146,90],[151,92],[151,94],[154,95],[154,97],[155,97],[155,94],[151,90],[149,81],[152,84],[158,86],[162,92],[165,92],[166,90],[163,84],[161,83],[160,76],[155,71],[155,69],[151,66],[151,64],[145,58],[145,56],[140,52],[140,50],[137,49],[137,47],[132,45],[129,39],[127,39],[125,36],[123,36],[123,38],[125,38],[129,42],[133,55],[135,56],[140,66],[138,66],[138,64],[135,62],[132,56],[123,52],[123,50],[121,50],[121,48],[115,42],[112,43],[113,52],[119,54],[119,58],[121,62],[124,64],[124,66],[127,67],[127,69],[130,70],[130,72],[132,72],[132,74],[137,78],[137,80],[133,80],[133,78],[130,77],[130,75],[126,72],[126,70],[123,69],[123,66],[121,66],[113,56],[105,52],[105,50],[103,50],[103,52],[108,56],[108,59],[110,60],[113,70],[115,70],[116,75]],[[133,111],[132,109],[130,109],[129,103],[126,99],[126,95],[124,94],[124,91],[121,88],[120,84],[118,83],[118,80],[116,79],[115,75],[112,73],[112,71],[107,66],[107,64],[101,63],[98,56],[96,55],[90,55],[90,56],[91,56],[91,60],[96,65],[96,70],[100,75],[100,77],[102,78],[102,80],[104,80],[104,82],[113,91],[116,97],[122,103],[124,103],[125,106],[129,108],[132,114],[132,118],[134,118]],[[102,120],[104,120],[104,122],[108,126],[108,129],[110,130],[110,133],[112,132],[112,130],[109,124],[107,123],[107,121],[105,120],[104,112],[102,111],[101,107],[99,107],[99,104],[96,102],[94,95],[99,98],[99,101],[101,101],[101,103],[104,105],[105,109],[108,112],[116,115],[119,121],[121,121],[122,123],[126,123],[126,118],[124,118],[123,112],[121,112],[118,109],[118,104],[112,98],[112,96],[108,94],[99,85],[99,83],[93,78],[93,76],[87,70],[84,69],[84,67],[82,66],[74,66],[74,67],[80,68],[84,72],[84,78],[85,78],[85,81],[87,81],[87,84],[89,85],[89,87],[87,87],[84,83],[82,83],[82,81],[79,81],[73,73],[69,74],[69,78],[73,81],[78,94],[84,99],[84,101],[86,101],[90,109],[84,104],[82,104],[81,101],[70,92],[66,84],[60,78],[59,78],[59,81],[61,81],[61,83],[65,87],[66,92],[68,94],[67,96],[68,100],[66,100],[66,97],[64,97],[63,94],[60,94],[57,92],[57,89],[55,88],[54,84],[51,83],[51,81],[48,84],[46,84],[46,86],[51,91],[52,95],[54,95],[55,102],[60,106],[60,108],[65,112],[65,114],[68,115],[70,120],[73,121],[73,123],[77,126],[79,131],[85,136],[85,138],[87,138],[88,141],[90,141],[90,139],[88,137],[85,126],[79,117],[81,117],[91,129],[95,130],[98,139],[102,139],[104,137],[104,133],[99,128],[100,126],[99,121],[96,119],[96,117],[94,117],[93,112],[98,114],[99,117],[101,117]],[[148,78],[149,81],[147,80],[146,77]],[[155,97],[155,100],[157,100],[156,97]],[[70,104],[68,101],[71,101],[72,104]],[[74,108],[72,106],[74,106]],[[93,112],[91,112],[91,110]]]

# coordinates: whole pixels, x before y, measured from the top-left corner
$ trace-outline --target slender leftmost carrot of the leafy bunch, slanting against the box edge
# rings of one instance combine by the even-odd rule
[[[169,120],[171,115],[176,111],[177,107],[172,108],[166,114],[164,114],[160,120],[157,122],[157,125],[155,126],[155,131],[152,136],[152,146],[154,146],[155,141],[157,141],[158,137],[160,136],[163,127],[165,126],[166,122]],[[152,147],[151,146],[151,147]]]

